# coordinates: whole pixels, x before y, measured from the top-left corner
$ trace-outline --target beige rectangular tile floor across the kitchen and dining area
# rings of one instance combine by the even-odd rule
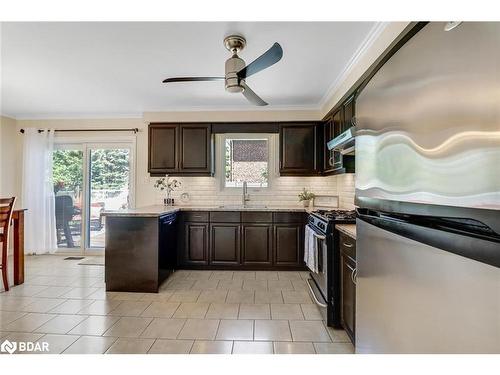
[[[0,292],[0,339],[50,353],[354,352],[321,320],[307,272],[180,270],[158,294],[117,293],[104,267],[79,262],[27,257],[25,283]]]

